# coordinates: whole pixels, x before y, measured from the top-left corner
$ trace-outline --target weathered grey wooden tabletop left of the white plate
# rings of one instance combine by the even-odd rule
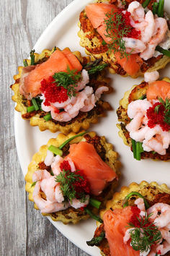
[[[33,208],[14,141],[14,103],[9,85],[17,66],[53,18],[71,0],[1,0],[1,158],[0,255],[80,255],[74,246]]]

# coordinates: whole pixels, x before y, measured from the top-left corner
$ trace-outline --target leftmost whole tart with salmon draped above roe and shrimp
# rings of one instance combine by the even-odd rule
[[[69,48],[53,48],[42,54],[32,51],[30,57],[14,76],[12,100],[32,126],[39,126],[41,131],[79,132],[112,109],[101,100],[102,93],[112,91],[105,77],[107,64],[91,62]]]

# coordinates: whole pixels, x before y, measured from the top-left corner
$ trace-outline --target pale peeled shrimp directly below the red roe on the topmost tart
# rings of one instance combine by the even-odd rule
[[[135,38],[122,38],[125,41],[127,53],[138,54],[146,49],[145,43],[142,40]]]

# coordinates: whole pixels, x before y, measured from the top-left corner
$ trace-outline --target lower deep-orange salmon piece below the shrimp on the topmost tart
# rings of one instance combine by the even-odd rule
[[[121,58],[120,53],[115,53],[117,63],[127,72],[128,74],[134,76],[140,70],[143,60],[138,56],[138,54],[130,54],[127,57]]]

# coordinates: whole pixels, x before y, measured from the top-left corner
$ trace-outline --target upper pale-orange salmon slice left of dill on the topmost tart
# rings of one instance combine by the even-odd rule
[[[85,7],[86,16],[89,18],[94,28],[103,24],[106,19],[107,12],[117,12],[117,7],[114,4],[89,4]]]

